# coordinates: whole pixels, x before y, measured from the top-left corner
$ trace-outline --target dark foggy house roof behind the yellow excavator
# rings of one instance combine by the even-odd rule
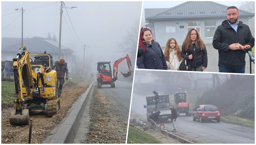
[[[10,42],[7,42],[5,40],[8,41],[12,41],[13,39],[13,43],[11,44]],[[2,38],[2,51],[15,51],[18,52],[18,49],[21,46],[21,41],[17,42],[14,41],[16,40],[16,38]],[[3,44],[6,43],[6,44]],[[8,45],[7,45],[8,43]],[[42,37],[33,37],[30,39],[23,39],[23,44],[26,45],[28,52],[44,52],[46,51],[47,53],[58,53],[59,52],[59,44],[58,42],[55,42],[53,40],[47,39],[47,38],[42,38]],[[7,46],[7,47],[3,47],[3,46]],[[69,49],[68,47],[65,47],[63,45],[61,45],[61,54],[63,53],[72,53],[75,52],[71,49]]]

